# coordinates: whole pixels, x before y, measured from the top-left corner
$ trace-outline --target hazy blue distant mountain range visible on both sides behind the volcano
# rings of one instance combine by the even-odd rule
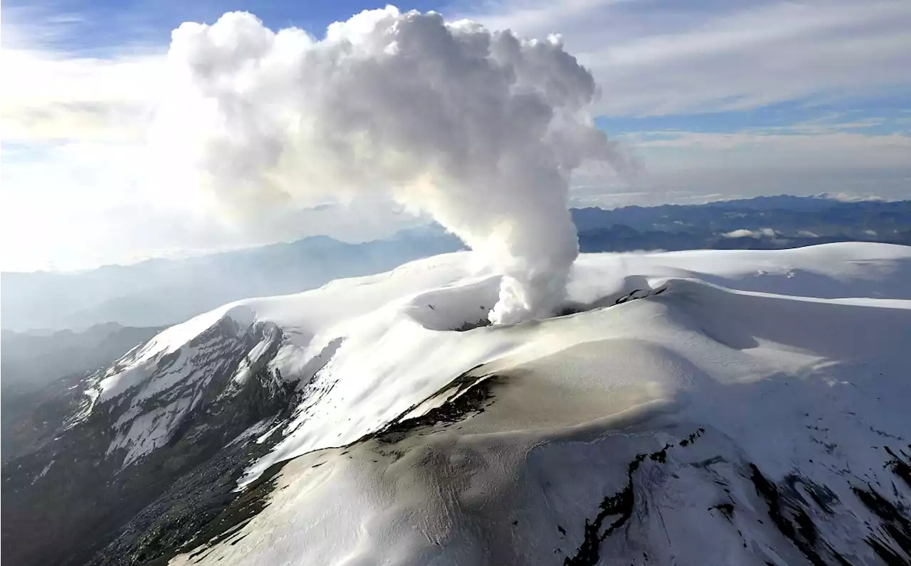
[[[911,201],[756,197],[705,205],[576,208],[583,252],[773,249],[840,241],[911,245]],[[169,325],[226,302],[319,287],[464,248],[440,227],[350,244],[328,237],[82,273],[0,273],[0,328]]]

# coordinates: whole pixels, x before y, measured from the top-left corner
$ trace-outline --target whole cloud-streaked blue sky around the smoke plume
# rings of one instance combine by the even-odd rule
[[[373,238],[414,219],[340,204],[226,228],[139,178],[170,30],[231,10],[319,37],[363,9],[331,2],[0,0],[0,270],[80,268],[329,233]],[[911,197],[911,2],[454,0],[437,10],[563,36],[602,94],[597,124],[640,165],[585,177],[578,205],[789,192]],[[297,213],[295,213],[297,215]],[[315,216],[314,216],[315,215]],[[334,216],[333,216],[334,215]],[[344,217],[344,219],[342,219]],[[26,247],[26,226],[44,226]],[[61,234],[67,234],[62,241]],[[15,242],[11,244],[10,242]]]

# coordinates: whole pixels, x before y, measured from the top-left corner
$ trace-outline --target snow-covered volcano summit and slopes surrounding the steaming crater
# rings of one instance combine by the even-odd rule
[[[905,563],[909,275],[878,244],[590,255],[576,314],[455,331],[498,281],[450,254],[170,328],[75,422],[120,408],[129,466],[213,367],[296,382],[241,480],[290,460],[281,489],[178,564]]]

